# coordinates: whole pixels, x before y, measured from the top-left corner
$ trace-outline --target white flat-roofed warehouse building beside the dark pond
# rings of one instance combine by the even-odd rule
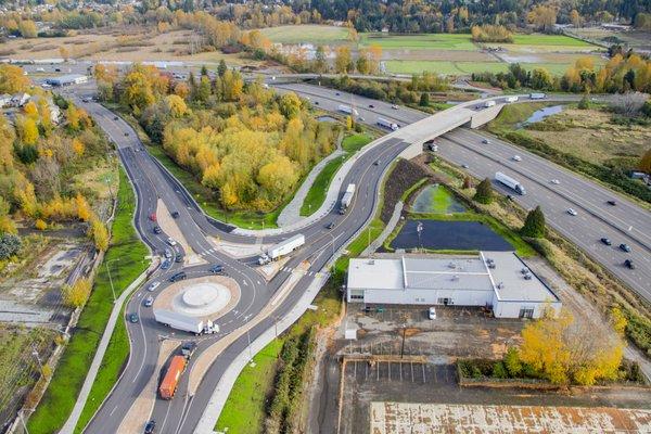
[[[348,303],[490,307],[497,318],[539,318],[561,301],[513,252],[350,259]]]

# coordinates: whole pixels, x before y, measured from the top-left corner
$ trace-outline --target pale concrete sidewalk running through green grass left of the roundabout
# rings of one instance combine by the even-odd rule
[[[79,421],[79,417],[81,416],[81,411],[86,406],[86,401],[88,400],[88,395],[90,394],[90,390],[92,388],[92,384],[94,383],[94,379],[98,374],[100,366],[102,365],[102,360],[104,359],[104,353],[106,352],[106,347],[108,346],[108,341],[111,341],[111,336],[113,335],[113,330],[115,329],[115,324],[118,320],[122,320],[123,317],[119,315],[122,311],[123,304],[129,296],[131,292],[133,292],[140,283],[142,283],[146,277],[149,268],[142,272],[131,284],[119,295],[115,305],[113,306],[113,310],[111,311],[111,317],[108,318],[108,322],[106,323],[106,329],[104,329],[104,334],[102,334],[102,340],[100,341],[100,345],[95,352],[95,355],[92,359],[92,363],[90,365],[90,369],[86,374],[86,380],[84,380],[84,385],[81,386],[81,391],[79,392],[79,396],[77,396],[77,401],[75,403],[75,407],[71,412],[67,421],[59,432],[60,434],[73,434],[75,427],[77,426],[77,422]],[[129,353],[130,355],[130,353]],[[130,357],[130,356],[129,356]],[[117,384],[117,382],[116,382]],[[113,391],[112,391],[113,392]],[[111,393],[110,393],[111,394]]]

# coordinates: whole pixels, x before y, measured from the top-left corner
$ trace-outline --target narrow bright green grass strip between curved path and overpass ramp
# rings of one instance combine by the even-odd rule
[[[305,201],[303,201],[303,205],[301,205],[301,215],[309,216],[311,213],[319,209],[323,201],[326,200],[326,194],[328,193],[328,188],[330,187],[330,182],[334,178],[334,174],[342,167],[342,164],[346,159],[348,159],[353,154],[363,148],[367,143],[373,138],[369,135],[353,135],[344,138],[342,141],[342,149],[346,151],[345,154],[339,156],[331,162],[329,162],[326,167],[317,175],[317,178],[312,182],[310,189],[305,196]]]

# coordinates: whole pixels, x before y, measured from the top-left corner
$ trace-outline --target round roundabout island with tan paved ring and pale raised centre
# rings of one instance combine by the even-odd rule
[[[216,320],[240,301],[240,285],[225,276],[204,276],[174,282],[154,302],[154,309],[171,310],[203,320]]]

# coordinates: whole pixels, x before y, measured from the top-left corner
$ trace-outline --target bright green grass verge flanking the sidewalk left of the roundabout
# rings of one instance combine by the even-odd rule
[[[88,369],[97,352],[106,321],[113,310],[113,295],[106,265],[111,268],[111,278],[115,295],[119,294],[146,268],[144,256],[149,251],[140,241],[132,225],[136,199],[125,171],[120,168],[118,203],[112,228],[111,245],[95,276],[93,290],[86,304],[77,327],[54,371],[52,381],[39,406],[27,422],[31,434],[55,433],[67,418],[79,395]],[[122,322],[122,321],[120,321]],[[124,324],[123,324],[124,328]],[[119,327],[112,336],[112,345],[104,356],[104,362],[98,373],[89,403],[94,409],[119,374],[128,354],[126,331],[119,335]],[[101,384],[100,384],[101,382]],[[102,391],[103,394],[102,394]],[[94,397],[94,401],[91,399]],[[88,407],[88,405],[87,405]],[[85,408],[82,416],[89,419],[94,409]]]

